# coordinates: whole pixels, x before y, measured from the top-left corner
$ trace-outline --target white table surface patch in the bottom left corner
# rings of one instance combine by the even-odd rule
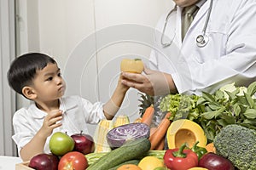
[[[21,162],[20,157],[0,156],[0,170],[15,170],[15,164]]]

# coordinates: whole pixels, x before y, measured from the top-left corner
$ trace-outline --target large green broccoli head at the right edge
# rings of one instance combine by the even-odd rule
[[[216,153],[240,170],[256,170],[256,131],[240,125],[223,127],[213,140]]]

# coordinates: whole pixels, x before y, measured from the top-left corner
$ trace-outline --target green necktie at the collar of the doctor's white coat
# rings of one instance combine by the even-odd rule
[[[194,20],[195,14],[199,8],[194,4],[189,7],[183,8],[182,14],[182,40],[186,35],[186,32],[189,30],[189,26],[191,25],[192,21]]]

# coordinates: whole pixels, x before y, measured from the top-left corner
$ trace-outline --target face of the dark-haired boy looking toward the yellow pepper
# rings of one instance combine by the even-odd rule
[[[65,93],[66,86],[58,65],[49,63],[43,70],[37,71],[32,88],[37,94],[37,100],[42,102],[61,98]]]

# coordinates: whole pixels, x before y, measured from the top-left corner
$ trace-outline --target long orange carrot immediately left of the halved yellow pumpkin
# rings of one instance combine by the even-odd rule
[[[167,112],[166,116],[161,120],[156,131],[149,137],[149,141],[151,142],[150,150],[154,150],[157,144],[160,143],[161,139],[165,137],[167,129],[171,124],[171,121],[169,120],[170,116],[171,116],[171,113]]]

